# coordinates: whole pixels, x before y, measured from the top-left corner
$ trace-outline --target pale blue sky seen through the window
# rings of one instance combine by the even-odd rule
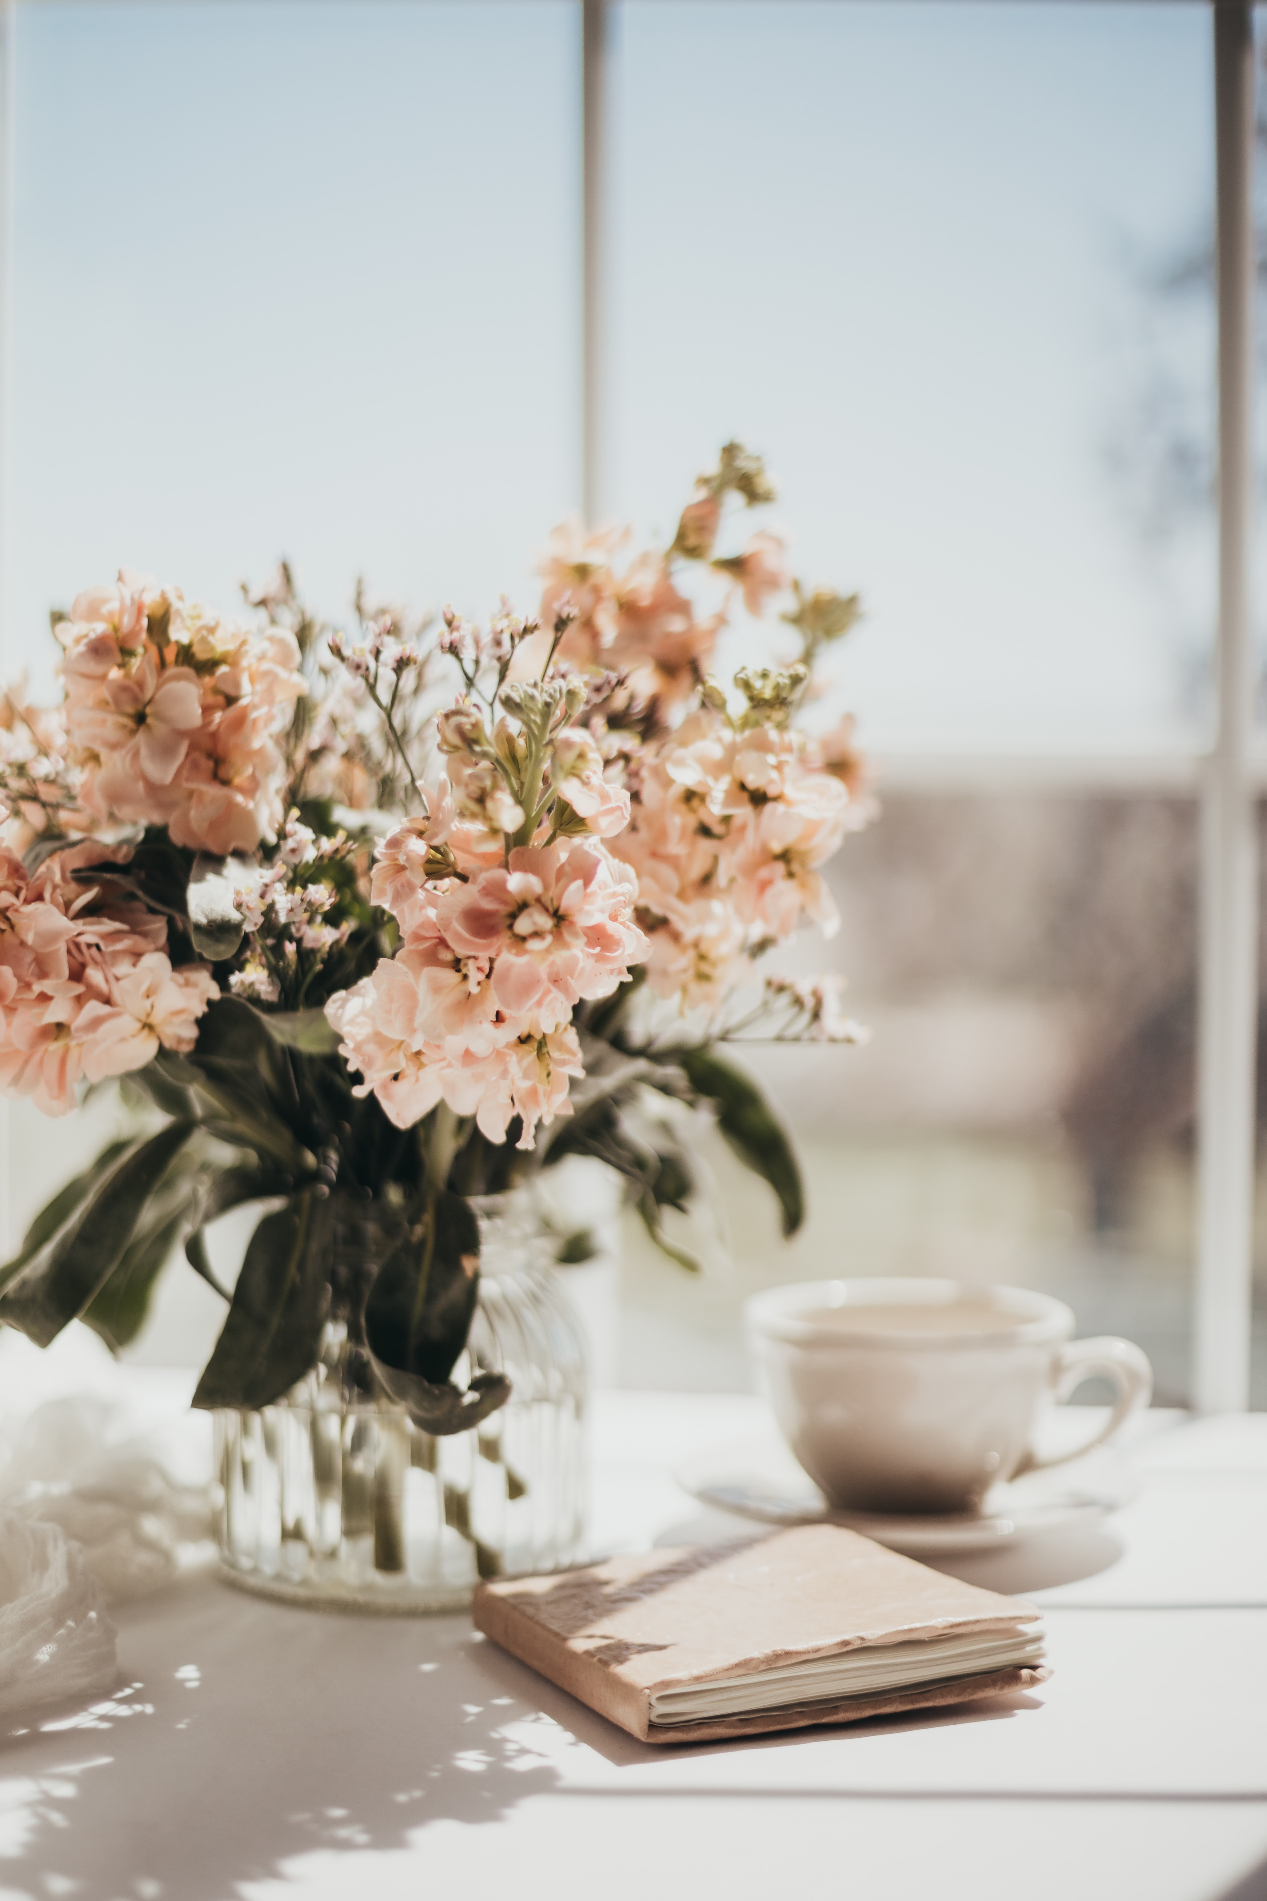
[[[1201,521],[1119,464],[1155,365],[1199,422],[1202,4],[629,0],[614,65],[610,500],[672,532],[737,435],[876,747],[1191,732]],[[572,0],[17,10],[8,663],[120,563],[232,606],[532,599],[579,498]],[[1138,456],[1136,456],[1138,458]]]

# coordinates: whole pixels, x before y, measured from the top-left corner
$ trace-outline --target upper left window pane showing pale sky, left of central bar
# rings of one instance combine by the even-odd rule
[[[577,489],[568,0],[17,11],[9,658],[120,563],[526,597]]]

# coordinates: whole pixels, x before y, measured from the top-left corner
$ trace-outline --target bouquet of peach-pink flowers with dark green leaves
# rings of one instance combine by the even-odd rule
[[[226,1300],[196,1407],[262,1409],[319,1363],[418,1430],[479,1426],[454,1378],[473,1200],[564,1156],[663,1209],[712,1114],[802,1219],[788,1141],[728,1042],[849,1038],[826,983],[754,964],[832,928],[824,859],[866,816],[851,728],[798,726],[857,601],[792,584],[728,445],[667,551],[558,528],[534,618],[334,629],[289,568],[222,620],[123,570],[53,614],[65,698],[0,713],[0,1087],[47,1116],[122,1089],[131,1133],[34,1219],[0,1319],[114,1350],[180,1251]],[[710,673],[739,605],[781,665]],[[264,1203],[232,1289],[205,1230]]]

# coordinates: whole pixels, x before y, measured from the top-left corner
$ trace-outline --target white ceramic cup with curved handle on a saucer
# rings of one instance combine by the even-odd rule
[[[1071,1340],[1073,1314],[1024,1287],[802,1281],[745,1308],[748,1338],[796,1458],[855,1511],[973,1511],[999,1479],[1102,1445],[1153,1392],[1130,1340]],[[1104,1376],[1117,1399],[1073,1450],[1039,1456],[1052,1403]]]

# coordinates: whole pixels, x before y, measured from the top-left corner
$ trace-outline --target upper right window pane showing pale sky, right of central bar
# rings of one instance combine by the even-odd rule
[[[1201,6],[621,10],[614,502],[661,528],[739,435],[870,618],[881,745],[1149,745],[1206,705]],[[1161,407],[1159,407],[1161,405]]]

